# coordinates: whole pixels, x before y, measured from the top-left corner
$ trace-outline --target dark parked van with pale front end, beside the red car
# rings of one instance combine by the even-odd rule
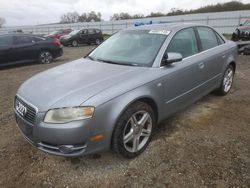
[[[81,29],[72,31],[69,35],[61,37],[60,40],[64,46],[76,47],[78,44],[91,43],[99,45],[103,41],[103,36],[100,29]]]

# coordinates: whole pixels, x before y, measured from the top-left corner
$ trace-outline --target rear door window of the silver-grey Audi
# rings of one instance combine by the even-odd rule
[[[218,46],[217,36],[212,29],[208,27],[197,27],[197,31],[200,36],[203,51]]]

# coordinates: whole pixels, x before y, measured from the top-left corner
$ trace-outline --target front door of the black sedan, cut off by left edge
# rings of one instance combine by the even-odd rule
[[[0,64],[10,62],[10,51],[13,37],[10,35],[0,36]]]

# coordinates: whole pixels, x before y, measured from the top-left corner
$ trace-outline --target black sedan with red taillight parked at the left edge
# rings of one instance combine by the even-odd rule
[[[51,63],[62,54],[58,39],[27,34],[0,35],[0,66],[32,61]]]

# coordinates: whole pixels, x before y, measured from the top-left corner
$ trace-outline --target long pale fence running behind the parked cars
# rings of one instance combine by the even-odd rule
[[[118,21],[6,27],[6,28],[1,28],[0,33],[9,33],[9,32],[15,32],[17,30],[22,30],[25,33],[48,34],[52,31],[59,29],[98,28],[101,29],[105,34],[112,34],[121,29],[133,27],[135,22],[152,21],[153,24],[169,23],[169,22],[192,22],[192,23],[206,24],[216,28],[220,33],[230,34],[235,30],[237,26],[239,26],[239,24],[243,23],[248,17],[250,17],[250,10],[203,13],[203,14],[187,14],[180,16],[165,16],[165,17],[118,20]]]

